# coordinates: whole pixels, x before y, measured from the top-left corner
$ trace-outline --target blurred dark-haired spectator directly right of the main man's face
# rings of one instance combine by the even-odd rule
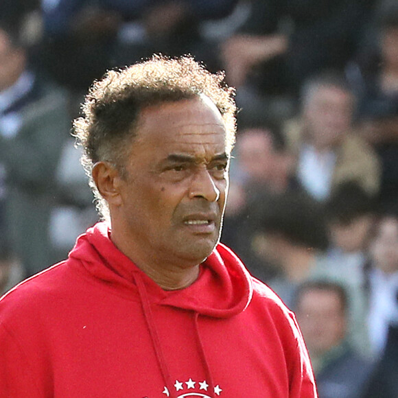
[[[231,166],[231,185],[222,242],[236,251],[255,277],[267,281],[274,268],[255,249],[257,217],[269,198],[296,189],[292,159],[277,124],[246,124],[238,132]]]

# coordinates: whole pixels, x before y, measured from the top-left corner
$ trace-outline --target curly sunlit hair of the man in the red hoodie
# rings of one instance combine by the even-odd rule
[[[108,71],[102,80],[95,81],[82,104],[82,117],[73,121],[73,135],[82,145],[82,165],[102,218],[109,217],[109,209],[91,176],[93,165],[108,161],[124,174],[129,144],[137,136],[143,108],[205,95],[220,110],[226,143],[232,150],[236,131],[234,94],[234,89],[224,83],[223,73],[207,71],[191,56],[154,55],[126,69]]]

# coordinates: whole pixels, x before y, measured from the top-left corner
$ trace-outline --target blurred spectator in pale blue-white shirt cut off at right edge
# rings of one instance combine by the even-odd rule
[[[381,355],[388,327],[398,322],[398,216],[384,214],[375,226],[369,244],[367,269],[369,288],[368,325],[371,347]]]

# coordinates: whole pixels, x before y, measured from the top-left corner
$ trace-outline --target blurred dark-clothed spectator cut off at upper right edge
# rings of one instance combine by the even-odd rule
[[[360,94],[359,132],[382,163],[379,204],[388,209],[398,195],[398,3],[380,2],[375,14],[375,49],[365,46],[350,78]]]

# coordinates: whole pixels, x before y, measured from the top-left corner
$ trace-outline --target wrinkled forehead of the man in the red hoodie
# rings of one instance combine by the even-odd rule
[[[211,101],[201,98],[144,108],[137,124],[136,143],[153,152],[198,156],[227,152],[222,115]]]

